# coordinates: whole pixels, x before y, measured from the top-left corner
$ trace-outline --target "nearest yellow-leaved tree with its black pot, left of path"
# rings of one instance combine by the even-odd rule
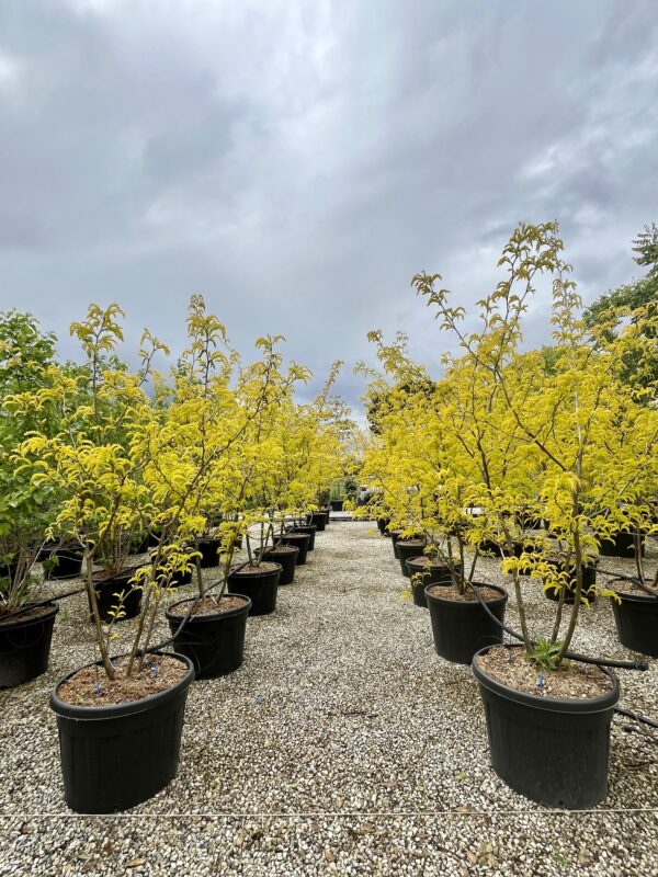
[[[158,411],[144,391],[141,376],[129,375],[110,355],[122,330],[116,305],[92,305],[87,320],[73,323],[88,353],[88,366],[75,375],[55,369],[50,386],[23,395],[26,408],[56,405],[63,429],[56,435],[35,430],[21,448],[32,485],[60,498],[53,531],[87,546],[86,586],[93,622],[94,660],[73,670],[53,690],[65,797],[80,812],[132,807],[164,787],[178,770],[186,691],[192,662],[150,648],[166,589],[156,565],[126,570],[128,537],[155,515],[144,475],[150,454],[146,436]],[[72,405],[71,400],[82,400]],[[175,520],[177,510],[171,510]],[[181,549],[182,550],[182,549]],[[102,617],[94,561],[123,579]],[[125,582],[125,584],[124,584]],[[137,619],[127,653],[113,656],[115,625],[127,599],[138,591]]]

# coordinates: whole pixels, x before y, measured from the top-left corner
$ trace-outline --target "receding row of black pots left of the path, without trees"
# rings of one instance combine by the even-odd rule
[[[235,565],[218,600],[211,596],[211,586],[207,605],[192,596],[167,608],[171,640],[155,647],[145,661],[156,676],[167,669],[173,674],[174,684],[138,699],[89,706],[61,696],[63,687],[73,684],[86,668],[57,683],[50,706],[57,716],[69,807],[78,812],[124,810],[151,797],[175,776],[191,683],[227,675],[242,664],[248,617],[275,611],[280,585],[293,583],[296,567],[307,562],[308,553],[315,549],[316,533],[325,529],[328,520],[328,512],[314,513],[313,523],[286,529],[253,566]],[[219,542],[212,544],[208,539],[204,547],[200,566],[217,566]],[[133,594],[141,595],[139,589],[128,584],[133,573],[134,569],[126,573],[123,583],[128,589],[127,600]],[[188,582],[178,581],[177,586],[184,583]],[[117,586],[122,582],[115,580],[115,594]],[[57,603],[50,603],[32,614],[27,608],[21,618],[0,624],[3,687],[46,671],[57,612]],[[168,646],[173,651],[166,651]]]

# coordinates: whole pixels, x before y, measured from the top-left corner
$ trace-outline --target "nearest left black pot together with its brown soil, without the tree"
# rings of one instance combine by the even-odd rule
[[[91,664],[50,695],[68,806],[81,813],[126,810],[151,798],[177,774],[183,714],[194,667],[180,654],[149,656],[134,679],[106,680]],[[99,687],[100,686],[100,687]]]

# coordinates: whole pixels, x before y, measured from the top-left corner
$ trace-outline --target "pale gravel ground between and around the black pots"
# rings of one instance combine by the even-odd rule
[[[649,569],[657,560],[654,544]],[[481,569],[501,581],[494,560]],[[93,658],[84,597],[67,600],[48,672],[0,693],[0,877],[658,875],[658,732],[614,720],[597,810],[515,795],[489,766],[470,670],[435,654],[429,613],[405,586],[372,524],[319,533],[276,613],[249,619],[242,668],[190,688],[178,777],[116,817],[75,816],[64,801],[48,693]],[[526,592],[545,633],[554,604],[536,584]],[[633,657],[608,601],[585,612],[575,648]],[[658,662],[620,679],[622,705],[656,717]]]

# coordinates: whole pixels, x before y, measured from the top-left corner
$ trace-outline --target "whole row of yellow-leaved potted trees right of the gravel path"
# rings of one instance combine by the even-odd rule
[[[622,642],[658,656],[658,573],[644,562],[658,532],[658,410],[643,371],[658,317],[655,305],[615,309],[586,328],[561,252],[556,224],[520,226],[479,327],[439,275],[413,278],[460,351],[433,380],[404,335],[371,333],[385,374],[371,374],[362,478],[377,490],[364,513],[429,605],[436,651],[473,663],[495,770],[534,800],[582,808],[605,795],[620,696],[614,661],[574,653],[588,603],[609,597]],[[547,281],[553,345],[526,351],[522,318]],[[608,577],[599,556],[624,549],[635,574]],[[519,630],[504,626],[510,594],[485,580],[483,556],[500,560]],[[547,628],[529,617],[537,583],[554,599]],[[503,645],[506,630],[515,641]]]

